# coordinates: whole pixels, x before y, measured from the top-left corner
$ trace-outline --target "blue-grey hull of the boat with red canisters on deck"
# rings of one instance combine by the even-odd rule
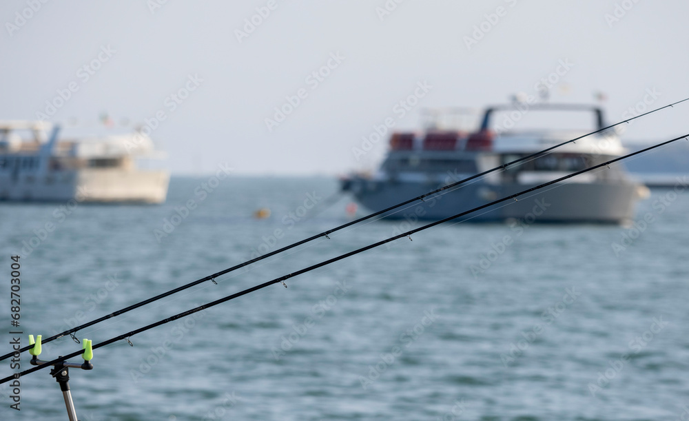
[[[491,185],[468,183],[444,194],[428,196],[425,202],[407,205],[384,214],[391,219],[439,220],[484,206],[498,198],[522,192],[537,184],[508,183]],[[348,189],[357,200],[373,212],[387,209],[410,198],[437,189],[432,183],[395,183],[354,178]],[[612,223],[619,224],[634,217],[641,186],[630,181],[617,183],[558,183],[542,191],[526,194],[517,201],[492,205],[457,220],[491,222],[522,219],[527,223]]]

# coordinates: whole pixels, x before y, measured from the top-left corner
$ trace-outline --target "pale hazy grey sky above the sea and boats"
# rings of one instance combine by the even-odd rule
[[[686,0],[5,0],[0,119],[147,119],[176,174],[342,174],[380,160],[387,136],[353,148],[386,119],[415,127],[422,107],[502,103],[548,76],[551,101],[604,92],[610,121],[683,99],[687,16]],[[689,132],[688,112],[626,136]]]

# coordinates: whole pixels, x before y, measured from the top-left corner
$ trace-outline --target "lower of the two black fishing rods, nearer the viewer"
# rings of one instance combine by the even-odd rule
[[[396,235],[396,236],[392,236],[392,237],[387,238],[387,239],[385,239],[385,240],[378,241],[378,243],[373,243],[373,244],[367,245],[366,247],[361,247],[360,249],[356,249],[356,250],[353,250],[353,251],[349,251],[349,253],[341,254],[340,256],[336,256],[336,257],[330,258],[330,259],[328,259],[328,260],[324,260],[324,261],[322,261],[322,262],[320,262],[320,263],[317,263],[316,265],[311,265],[311,266],[309,266],[309,267],[305,267],[304,269],[300,269],[300,270],[298,270],[298,271],[296,271],[296,272],[293,272],[293,273],[291,273],[291,274],[284,275],[284,276],[280,276],[279,278],[275,278],[275,279],[273,279],[273,280],[269,280],[269,281],[267,281],[267,282],[265,282],[265,283],[263,283],[263,284],[259,284],[259,285],[256,285],[256,286],[254,286],[254,287],[251,287],[251,288],[248,288],[248,289],[244,289],[243,291],[239,291],[239,292],[237,292],[237,293],[235,293],[235,294],[231,294],[231,295],[229,295],[229,296],[225,296],[225,297],[223,297],[223,298],[219,298],[218,300],[215,300],[215,301],[212,301],[212,302],[208,302],[208,303],[206,303],[206,304],[204,304],[204,305],[200,305],[200,306],[198,306],[198,307],[194,307],[193,309],[189,309],[189,310],[187,310],[187,311],[183,311],[182,313],[176,314],[176,315],[174,315],[174,316],[170,316],[170,317],[165,318],[165,319],[163,319],[163,320],[158,320],[157,322],[151,323],[150,325],[146,325],[146,326],[144,326],[144,327],[140,327],[139,329],[135,329],[135,330],[133,330],[133,331],[124,333],[123,335],[116,336],[116,337],[114,337],[114,338],[110,338],[110,339],[108,339],[108,340],[105,340],[104,342],[100,342],[99,344],[92,345],[92,348],[91,348],[91,349],[98,349],[98,348],[101,348],[101,347],[105,347],[106,345],[110,345],[110,344],[112,344],[112,343],[114,343],[114,342],[117,342],[117,341],[119,341],[119,340],[127,340],[127,342],[129,342],[129,338],[131,338],[132,336],[134,336],[134,335],[136,335],[136,334],[138,334],[138,333],[141,333],[141,332],[144,332],[144,331],[153,329],[154,327],[158,327],[158,326],[161,326],[161,325],[165,325],[166,323],[173,322],[174,320],[178,320],[178,319],[183,318],[183,317],[185,317],[185,316],[189,316],[189,315],[191,315],[191,314],[197,313],[198,311],[202,311],[202,310],[205,310],[205,309],[209,309],[210,307],[214,307],[214,306],[216,306],[216,305],[222,304],[223,302],[226,302],[226,301],[229,301],[229,300],[234,300],[234,298],[238,298],[238,297],[241,297],[241,296],[245,296],[246,294],[249,294],[249,293],[251,293],[251,292],[258,291],[259,289],[263,289],[263,288],[265,288],[265,287],[269,287],[270,285],[274,285],[274,284],[277,284],[277,283],[282,283],[282,285],[284,285],[285,287],[287,287],[287,284],[285,284],[285,280],[288,280],[289,278],[294,278],[295,276],[298,276],[298,275],[301,275],[301,274],[305,274],[305,273],[307,273],[307,272],[309,272],[309,271],[313,271],[313,270],[315,270],[315,269],[318,269],[318,268],[323,267],[323,266],[326,266],[326,265],[330,265],[331,263],[335,263],[335,262],[338,262],[339,260],[342,260],[342,259],[345,259],[345,258],[354,256],[354,255],[356,255],[356,254],[360,254],[360,253],[362,253],[362,252],[364,252],[364,251],[367,251],[367,250],[369,250],[369,249],[373,249],[373,248],[376,248],[376,247],[380,247],[381,245],[384,245],[384,244],[387,244],[387,243],[391,243],[392,241],[394,241],[394,240],[399,240],[400,238],[408,237],[408,238],[411,239],[411,235],[412,235],[412,234],[415,234],[415,233],[417,233],[417,232],[424,231],[425,229],[429,229],[429,228],[431,228],[431,227],[435,227],[436,225],[440,225],[440,224],[442,224],[442,223],[446,223],[446,222],[449,221],[449,220],[453,220],[453,219],[456,219],[456,218],[460,218],[461,216],[465,216],[465,215],[467,215],[467,214],[471,214],[471,213],[473,213],[473,212],[477,212],[477,211],[479,211],[479,210],[481,210],[481,209],[485,209],[486,207],[491,207],[491,206],[493,206],[493,205],[497,205],[498,203],[502,203],[502,202],[505,202],[505,201],[509,201],[509,200],[517,201],[517,197],[523,196],[524,194],[527,194],[527,193],[530,193],[530,192],[535,192],[536,190],[542,189],[542,188],[544,188],[544,187],[548,187],[549,185],[553,185],[553,184],[555,184],[555,183],[559,183],[560,181],[564,181],[564,180],[566,180],[566,179],[568,179],[568,178],[572,178],[572,177],[578,176],[578,175],[580,175],[580,174],[584,174],[584,173],[586,173],[586,172],[590,172],[590,171],[593,171],[593,170],[597,170],[598,168],[601,168],[601,167],[608,167],[608,168],[609,168],[610,164],[612,164],[612,163],[616,163],[616,162],[618,162],[618,161],[623,161],[624,159],[630,158],[631,156],[639,155],[639,154],[642,154],[642,153],[644,153],[644,152],[648,152],[648,151],[650,151],[650,150],[654,150],[654,149],[656,149],[657,147],[669,145],[670,143],[679,141],[679,140],[681,140],[681,139],[686,139],[687,141],[689,141],[689,133],[688,133],[688,134],[685,134],[685,135],[683,135],[683,136],[679,136],[679,137],[677,137],[677,138],[670,139],[669,141],[666,141],[666,142],[663,142],[663,143],[658,143],[657,145],[652,145],[652,146],[650,146],[650,147],[646,147],[645,149],[639,150],[639,151],[637,151],[637,152],[632,152],[632,153],[626,154],[626,155],[624,155],[624,156],[619,156],[619,157],[617,157],[617,158],[615,158],[615,159],[612,159],[612,160],[610,160],[610,161],[606,161],[606,162],[604,162],[604,163],[601,163],[601,164],[598,164],[598,165],[594,165],[593,167],[588,167],[588,168],[586,168],[586,169],[584,169],[584,170],[580,170],[580,171],[577,171],[577,172],[573,172],[572,174],[568,174],[568,175],[566,175],[566,176],[562,176],[562,177],[560,177],[560,178],[556,178],[555,180],[548,181],[547,183],[543,183],[543,184],[537,185],[537,186],[535,186],[535,187],[528,188],[528,189],[526,189],[526,190],[523,190],[522,192],[518,192],[518,193],[515,193],[515,194],[511,194],[511,195],[509,195],[509,196],[505,196],[505,197],[500,198],[500,199],[497,199],[497,200],[495,200],[495,201],[493,201],[493,202],[491,202],[491,203],[486,203],[486,204],[484,204],[484,205],[480,205],[480,206],[474,207],[473,209],[469,209],[469,210],[467,210],[467,211],[460,212],[459,214],[455,214],[455,215],[453,215],[453,216],[449,216],[449,217],[447,217],[447,218],[444,218],[444,219],[441,219],[441,220],[437,220],[437,221],[435,221],[435,222],[433,222],[433,223],[429,223],[429,224],[423,225],[422,227],[418,227],[418,228],[415,228],[415,229],[411,229],[411,230],[409,230],[409,231],[407,231],[407,232],[404,232],[404,233],[402,233],[402,234],[398,234],[398,235]],[[37,343],[38,343],[38,342],[37,342]],[[130,342],[130,345],[131,345],[131,342]],[[40,347],[40,346],[39,346],[39,347]],[[21,376],[25,376],[25,375],[27,375],[27,374],[33,373],[34,371],[38,371],[38,370],[44,369],[45,367],[52,367],[52,366],[55,365],[55,364],[60,364],[61,362],[64,362],[64,361],[68,360],[69,358],[72,358],[72,357],[75,357],[75,356],[79,356],[79,355],[81,355],[82,353],[85,353],[85,352],[87,352],[86,349],[82,349],[81,351],[76,351],[76,352],[70,353],[70,354],[68,354],[68,355],[66,355],[66,356],[61,356],[61,357],[56,358],[56,359],[54,359],[54,360],[51,360],[51,361],[48,361],[48,362],[44,362],[43,364],[38,365],[37,367],[33,367],[32,369],[28,369],[28,370],[25,370],[25,371],[21,371],[20,373],[14,373],[12,376],[8,376],[8,377],[6,377],[6,378],[1,379],[1,380],[0,380],[0,384],[3,384],[3,383],[8,382],[8,381],[10,381],[10,380],[18,379],[18,378],[20,378]]]

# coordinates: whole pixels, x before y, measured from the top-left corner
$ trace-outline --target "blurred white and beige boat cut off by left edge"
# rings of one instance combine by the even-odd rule
[[[43,121],[0,121],[0,201],[165,201],[169,173],[136,165],[160,157],[149,136],[58,139],[59,129]]]

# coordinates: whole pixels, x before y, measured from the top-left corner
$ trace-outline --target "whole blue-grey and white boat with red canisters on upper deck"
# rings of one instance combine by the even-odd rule
[[[526,114],[545,111],[588,112],[593,129],[604,127],[601,109],[590,105],[529,105]],[[521,111],[520,111],[521,110]],[[473,130],[457,130],[431,123],[421,132],[398,132],[378,172],[353,174],[342,181],[371,211],[431,192],[463,178],[504,165],[517,158],[581,136],[593,130],[495,130],[495,114],[515,119],[524,116],[519,104],[487,108]],[[516,113],[516,114],[515,114]],[[552,115],[552,114],[551,114]],[[552,121],[552,119],[551,119]],[[519,126],[518,124],[516,126]],[[521,192],[566,174],[603,163],[624,154],[614,130],[587,136],[544,156],[510,165],[455,189],[425,198],[409,209],[395,209],[387,218],[442,219],[497,198]],[[562,183],[526,194],[517,202],[493,205],[464,216],[463,220],[524,220],[546,223],[623,223],[633,218],[635,204],[646,187],[631,180],[622,165],[610,165],[575,176]]]

